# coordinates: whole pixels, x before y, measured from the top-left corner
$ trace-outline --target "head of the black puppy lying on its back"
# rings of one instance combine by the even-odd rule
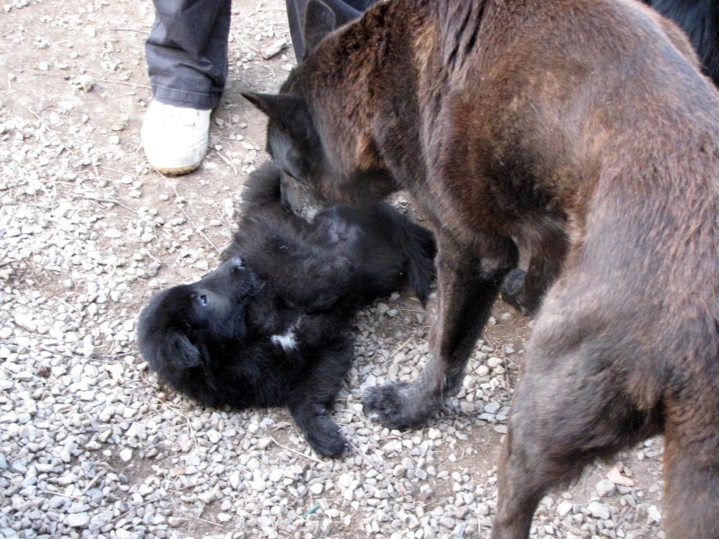
[[[195,283],[163,290],[139,316],[140,353],[175,389],[197,393],[212,350],[244,339],[247,303],[258,287],[253,272],[235,257]]]

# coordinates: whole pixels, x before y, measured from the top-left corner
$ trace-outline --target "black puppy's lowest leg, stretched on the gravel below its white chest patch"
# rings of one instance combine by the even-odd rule
[[[307,443],[318,454],[342,455],[347,441],[327,408],[332,406],[350,370],[354,356],[352,340],[349,336],[338,338],[333,343],[323,343],[321,349],[313,352],[312,366],[289,394],[288,409]]]

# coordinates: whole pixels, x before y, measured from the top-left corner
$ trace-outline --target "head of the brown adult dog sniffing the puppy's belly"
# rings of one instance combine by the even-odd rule
[[[337,22],[329,7],[310,0],[305,61],[279,94],[243,93],[269,117],[267,149],[283,172],[282,198],[302,216],[327,202],[374,203],[397,190],[379,155],[364,97],[358,97],[364,96],[359,85],[366,84],[362,64],[367,58],[360,52],[356,70],[349,70],[340,50],[344,45],[337,45],[357,23],[334,31]],[[347,41],[359,49],[356,37],[342,42]]]

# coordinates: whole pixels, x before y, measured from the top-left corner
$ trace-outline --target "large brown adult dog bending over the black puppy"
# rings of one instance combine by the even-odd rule
[[[310,49],[333,26],[313,1]],[[633,0],[393,0],[319,42],[270,116],[288,183],[404,188],[436,225],[439,315],[416,384],[371,417],[422,424],[457,390],[512,237],[555,278],[528,343],[493,537],[546,490],[666,434],[667,536],[719,537],[719,95]]]

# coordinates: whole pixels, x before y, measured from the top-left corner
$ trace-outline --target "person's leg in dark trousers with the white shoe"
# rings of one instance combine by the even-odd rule
[[[155,169],[182,174],[207,152],[209,114],[227,78],[231,0],[153,0],[146,60],[155,101],[142,144]]]

